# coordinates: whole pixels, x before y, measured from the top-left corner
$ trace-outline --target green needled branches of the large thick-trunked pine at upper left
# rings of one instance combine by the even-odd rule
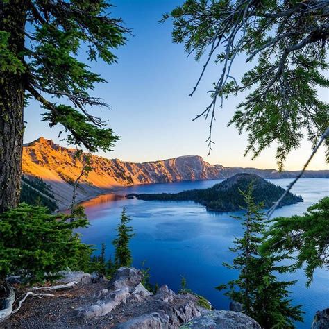
[[[31,0],[6,1],[1,6],[1,73],[22,78],[26,99],[36,99],[47,110],[44,121],[49,126],[64,127],[69,144],[92,152],[110,150],[118,137],[89,112],[95,106],[108,107],[90,96],[97,83],[106,81],[77,58],[87,53],[87,62],[117,62],[112,51],[125,44],[129,31],[121,19],[110,17],[110,3]],[[24,22],[22,31],[17,31],[17,22]],[[3,87],[10,89],[10,85]]]

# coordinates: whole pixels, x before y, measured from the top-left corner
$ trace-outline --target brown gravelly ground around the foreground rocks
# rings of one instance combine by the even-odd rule
[[[169,307],[166,303],[149,296],[142,302],[128,300],[127,303],[118,305],[115,310],[103,317],[83,320],[74,315],[76,308],[94,304],[97,300],[96,294],[106,287],[108,287],[108,282],[101,282],[53,292],[56,297],[28,297],[19,312],[13,314],[4,323],[0,323],[0,328],[114,328],[117,323]],[[17,292],[17,296],[23,293]],[[184,296],[175,296],[174,305],[179,307],[184,303],[186,303]]]

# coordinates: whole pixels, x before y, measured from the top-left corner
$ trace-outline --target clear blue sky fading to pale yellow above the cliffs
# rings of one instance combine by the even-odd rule
[[[122,17],[125,26],[132,28],[126,46],[115,50],[118,63],[106,65],[92,63],[92,70],[108,81],[96,85],[94,96],[100,96],[112,110],[93,110],[102,119],[108,120],[121,140],[112,152],[99,152],[106,158],[119,158],[133,162],[162,160],[180,155],[201,155],[212,164],[228,167],[276,168],[275,145],[262,152],[255,160],[244,157],[247,145],[246,134],[239,135],[234,126],[227,127],[235,106],[244,95],[224,101],[217,110],[213,127],[212,153],[208,156],[208,121],[192,119],[202,112],[210,99],[207,94],[221,72],[220,65],[209,67],[203,81],[191,98],[192,91],[205,58],[195,62],[184,52],[183,45],[171,42],[171,22],[160,24],[162,14],[169,12],[183,1],[180,0],[115,0],[112,15]],[[81,59],[85,55],[81,53]],[[243,58],[238,58],[233,74],[239,78],[246,69]],[[319,96],[329,101],[328,92],[319,91]],[[24,113],[26,130],[24,142],[42,136],[66,146],[58,139],[60,126],[49,128],[41,121],[44,112],[40,104],[31,101]],[[312,149],[303,142],[300,149],[292,152],[285,164],[287,170],[298,170]],[[314,156],[308,169],[328,169],[324,148]]]

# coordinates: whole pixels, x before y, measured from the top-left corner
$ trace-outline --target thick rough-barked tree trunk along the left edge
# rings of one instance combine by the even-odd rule
[[[0,0],[0,30],[8,50],[23,62],[26,2]],[[5,58],[6,60],[6,58]],[[0,213],[19,204],[24,133],[24,73],[0,67]]]

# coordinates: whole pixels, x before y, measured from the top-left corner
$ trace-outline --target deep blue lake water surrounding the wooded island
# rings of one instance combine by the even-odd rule
[[[132,218],[135,237],[130,243],[133,265],[150,267],[151,282],[167,284],[177,291],[181,276],[197,294],[201,294],[218,310],[228,310],[229,301],[223,292],[214,287],[235,278],[237,273],[223,267],[231,262],[234,254],[228,251],[235,237],[242,235],[239,221],[232,215],[239,212],[208,212],[193,201],[142,201],[124,198],[128,193],[180,192],[185,189],[211,187],[222,180],[203,180],[181,183],[135,185],[119,189],[115,194],[99,196],[84,203],[90,226],[79,230],[83,242],[100,247],[106,243],[107,256],[113,255],[112,240],[119,223],[121,210]],[[286,187],[290,179],[271,180]],[[276,210],[274,217],[303,214],[306,208],[328,196],[329,179],[303,178],[298,180],[292,192],[303,197],[303,203]],[[329,307],[329,272],[317,269],[310,288],[305,287],[303,271],[285,275],[283,278],[298,280],[291,288],[294,304],[302,304],[304,323],[297,328],[310,328],[314,313]]]

